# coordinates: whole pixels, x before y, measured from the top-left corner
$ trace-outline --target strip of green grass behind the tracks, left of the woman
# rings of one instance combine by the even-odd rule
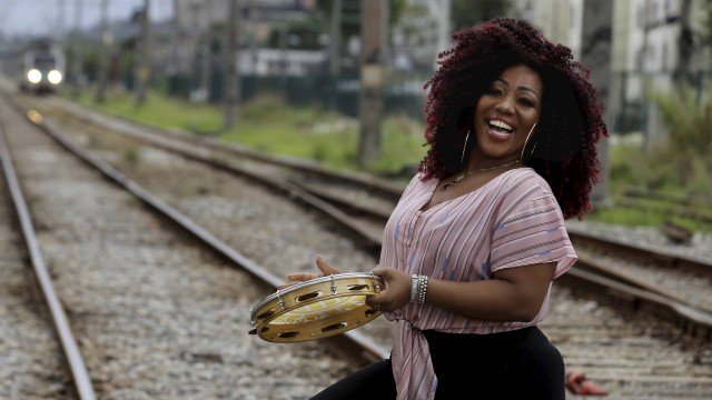
[[[103,104],[85,93],[80,102],[89,107],[168,130],[217,134],[221,127],[219,106],[194,104],[151,92],[137,108],[131,93],[111,93]],[[389,117],[383,123],[380,161],[368,166],[378,174],[397,174],[425,156],[423,124],[406,117]],[[243,106],[238,126],[219,139],[271,154],[312,159],[346,170],[358,170],[358,122],[326,112],[316,106],[294,107],[279,96],[263,94]],[[131,158],[131,154],[125,154]]]

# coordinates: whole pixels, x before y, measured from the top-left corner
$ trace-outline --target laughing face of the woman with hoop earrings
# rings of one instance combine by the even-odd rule
[[[526,136],[538,121],[543,91],[542,79],[531,68],[514,66],[504,70],[477,101],[474,157],[518,158]]]

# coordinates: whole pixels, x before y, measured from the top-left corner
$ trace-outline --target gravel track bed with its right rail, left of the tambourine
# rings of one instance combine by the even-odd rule
[[[271,292],[274,276],[235,249],[209,243],[210,232],[96,156],[60,136],[50,140],[51,130],[42,133],[43,124],[32,127],[23,113],[0,99],[40,246],[99,397],[306,398],[384,356],[367,353],[368,339],[354,342],[358,333],[289,348],[249,337],[249,308]],[[162,211],[152,214],[141,203]]]

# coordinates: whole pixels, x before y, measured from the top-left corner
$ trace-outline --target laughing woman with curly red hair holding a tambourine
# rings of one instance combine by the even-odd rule
[[[564,219],[591,209],[606,134],[595,90],[526,22],[453,38],[426,84],[431,150],[373,270],[386,289],[367,302],[396,321],[392,357],[316,399],[564,399],[562,357],[536,323],[576,260]]]

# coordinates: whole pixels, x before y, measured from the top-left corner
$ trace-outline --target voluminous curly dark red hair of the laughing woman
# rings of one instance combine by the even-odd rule
[[[521,20],[498,18],[458,31],[453,39],[424,86],[431,92],[423,146],[431,149],[418,167],[422,179],[442,179],[463,169],[465,134],[479,97],[502,71],[525,64],[540,74],[544,94],[525,149],[528,157],[522,161],[548,182],[564,218],[581,219],[592,209],[590,194],[599,180],[595,143],[607,136],[589,69],[573,61],[567,47],[552,43]]]

